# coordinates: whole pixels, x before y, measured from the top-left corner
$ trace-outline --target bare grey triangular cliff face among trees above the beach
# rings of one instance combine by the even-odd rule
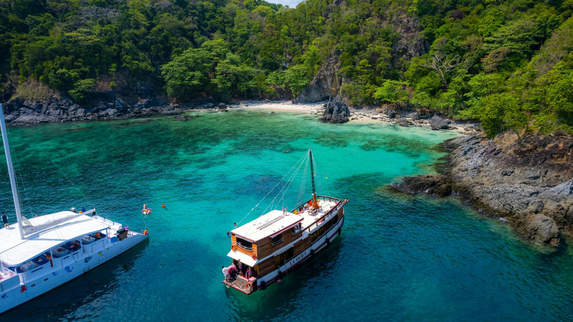
[[[307,85],[292,103],[315,103],[339,95],[342,78],[339,77],[339,53],[333,54],[325,65],[316,73],[315,78]]]

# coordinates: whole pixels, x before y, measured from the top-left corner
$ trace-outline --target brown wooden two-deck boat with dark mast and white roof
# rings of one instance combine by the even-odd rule
[[[311,164],[310,199],[291,211],[284,207],[275,209],[231,230],[231,250],[227,256],[233,263],[226,268],[229,274],[223,280],[227,287],[245,294],[264,290],[340,235],[348,199],[316,194],[311,150],[307,156]]]

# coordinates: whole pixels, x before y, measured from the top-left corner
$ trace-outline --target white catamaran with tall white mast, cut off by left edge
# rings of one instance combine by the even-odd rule
[[[72,280],[145,240],[95,214],[60,211],[26,219],[20,211],[14,168],[0,104],[0,127],[18,223],[0,229],[0,313]]]

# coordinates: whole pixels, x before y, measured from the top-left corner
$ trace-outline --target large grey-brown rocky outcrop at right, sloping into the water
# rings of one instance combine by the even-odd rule
[[[486,213],[514,222],[526,237],[559,244],[558,227],[573,224],[571,136],[507,131],[487,139],[477,133],[450,139],[445,147],[452,153],[439,180],[406,178],[397,187],[419,192],[445,184]]]

